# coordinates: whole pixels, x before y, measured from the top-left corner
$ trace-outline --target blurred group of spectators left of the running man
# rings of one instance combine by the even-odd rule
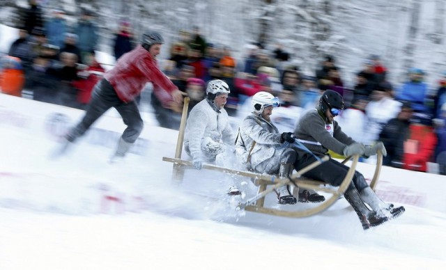
[[[69,22],[60,9],[44,15],[38,1],[29,0],[17,24],[18,38],[1,61],[3,93],[84,109],[105,68],[98,63],[98,26],[92,10],[84,9]],[[121,21],[114,35],[116,59],[134,47],[130,24]]]

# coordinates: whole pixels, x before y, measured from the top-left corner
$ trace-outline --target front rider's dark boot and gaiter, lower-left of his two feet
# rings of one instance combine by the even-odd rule
[[[344,193],[344,197],[350,203],[350,205],[355,209],[357,216],[359,217],[362,228],[367,230],[371,227],[378,226],[380,224],[389,221],[387,216],[379,216],[374,211],[370,211],[360,197],[360,193],[356,188],[349,189]]]

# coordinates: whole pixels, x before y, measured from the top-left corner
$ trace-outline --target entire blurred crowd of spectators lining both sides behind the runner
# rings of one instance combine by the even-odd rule
[[[36,0],[29,0],[29,8],[20,14],[17,39],[1,57],[1,92],[21,97],[26,91],[33,100],[84,109],[93,86],[112,68],[96,55],[95,12],[81,10],[74,23],[61,9],[45,14],[49,16]],[[139,44],[130,21],[118,22],[109,44],[115,60]],[[213,42],[199,26],[181,29],[163,49],[167,57],[158,64],[190,97],[189,109],[205,98],[207,81],[222,79],[231,88],[226,104],[230,116],[243,118],[249,113],[250,97],[268,91],[282,101],[272,120],[287,132],[302,111],[316,106],[324,90],[335,90],[346,102],[336,120],[356,141],[383,141],[388,152],[385,165],[426,172],[435,171],[430,164],[438,164],[438,172],[446,174],[446,72],[436,84],[429,84],[424,70],[410,67],[405,81],[392,83],[386,59],[378,54],[365,55],[356,70],[341,69],[337,56],[325,54],[312,72],[304,72],[293,61],[295,55],[280,44],[251,42],[236,57],[233,51],[238,48]],[[352,74],[353,83],[344,81]],[[178,129],[183,108],[163,107],[150,85],[145,93],[140,105],[151,107],[160,126]]]

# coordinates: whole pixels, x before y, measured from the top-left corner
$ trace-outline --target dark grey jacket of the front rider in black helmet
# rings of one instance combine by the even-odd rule
[[[318,156],[327,154],[328,150],[342,154],[347,145],[355,143],[353,138],[342,132],[336,121],[328,124],[316,109],[307,111],[300,118],[294,136]]]

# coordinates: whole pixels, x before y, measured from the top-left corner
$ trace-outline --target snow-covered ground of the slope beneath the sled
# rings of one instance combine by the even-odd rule
[[[146,155],[110,165],[112,149],[86,139],[51,159],[52,138],[8,124],[0,124],[0,269],[446,267],[444,213],[405,205],[399,219],[364,232],[345,200],[305,219],[235,212],[196,195],[224,193],[227,175],[188,170],[171,184],[162,157],[174,157],[175,140],[149,141]],[[241,184],[252,196],[254,186]],[[105,199],[115,197],[127,203]]]

